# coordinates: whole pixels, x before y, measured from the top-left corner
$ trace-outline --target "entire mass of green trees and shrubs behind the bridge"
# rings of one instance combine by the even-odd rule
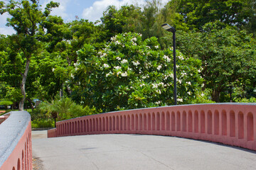
[[[256,101],[253,0],[109,6],[97,23],[51,16],[58,5],[0,1],[16,31],[0,35],[0,101],[13,108],[33,108],[33,99],[98,113],[172,105],[172,34],[163,23],[177,30],[178,104]]]

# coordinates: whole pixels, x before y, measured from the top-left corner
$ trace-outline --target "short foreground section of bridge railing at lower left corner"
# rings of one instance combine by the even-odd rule
[[[0,125],[0,170],[32,170],[31,115],[9,113]]]

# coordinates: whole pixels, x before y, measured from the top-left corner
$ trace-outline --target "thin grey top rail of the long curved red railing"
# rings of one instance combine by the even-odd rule
[[[130,109],[130,110],[124,110],[124,111],[111,111],[111,112],[105,112],[105,113],[118,113],[118,112],[129,112],[129,111],[144,111],[144,110],[150,110],[150,109],[156,109],[156,108],[171,108],[171,107],[187,107],[187,106],[210,106],[210,105],[225,105],[225,106],[256,106],[256,103],[200,103],[200,104],[187,104],[187,105],[174,105],[174,106],[159,106],[159,107],[152,107],[152,108],[135,108],[135,109]],[[99,113],[97,115],[100,114],[105,114],[105,113]],[[90,115],[84,115],[82,117],[86,117],[86,116],[90,116]],[[81,117],[77,117],[77,118],[81,118]],[[69,120],[73,120],[76,118],[71,118]],[[63,122],[66,120],[61,120],[58,121],[58,123]]]

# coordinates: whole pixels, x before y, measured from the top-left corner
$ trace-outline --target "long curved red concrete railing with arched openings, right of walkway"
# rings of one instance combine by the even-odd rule
[[[88,115],[58,122],[48,137],[111,133],[169,135],[256,150],[256,105],[199,104]]]

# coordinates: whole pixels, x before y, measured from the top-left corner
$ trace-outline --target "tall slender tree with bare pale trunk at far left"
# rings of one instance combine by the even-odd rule
[[[0,2],[0,13],[9,13],[11,18],[7,19],[7,26],[11,26],[16,30],[15,35],[11,35],[14,42],[12,51],[19,52],[23,60],[26,61],[26,66],[21,72],[21,94],[23,98],[19,103],[19,110],[23,110],[24,101],[26,98],[26,79],[28,76],[29,64],[31,56],[36,55],[40,43],[38,41],[38,33],[40,24],[48,17],[51,8],[57,7],[58,3],[50,2],[46,5],[44,13],[41,11],[38,1],[9,1]]]

